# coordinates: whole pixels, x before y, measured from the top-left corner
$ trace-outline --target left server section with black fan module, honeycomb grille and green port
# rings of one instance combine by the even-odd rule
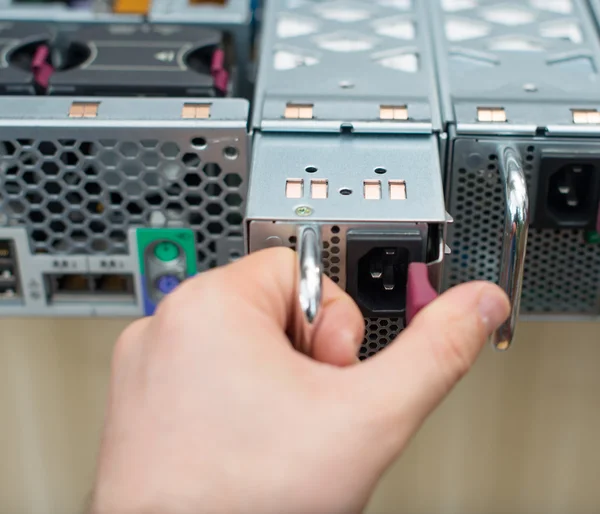
[[[10,9],[0,314],[151,314],[188,276],[239,258],[249,104],[231,34]]]

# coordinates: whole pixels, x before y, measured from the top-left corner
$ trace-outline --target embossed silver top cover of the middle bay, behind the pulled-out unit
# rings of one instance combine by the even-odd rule
[[[409,120],[399,127],[441,129],[427,4],[266,3],[253,126],[290,130],[301,120],[281,118],[286,103],[298,102],[314,104],[316,123],[303,125],[312,132],[330,130],[327,120],[375,131],[364,122],[385,121],[380,105],[408,107]]]

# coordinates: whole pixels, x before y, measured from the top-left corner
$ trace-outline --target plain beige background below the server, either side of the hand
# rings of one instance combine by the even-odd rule
[[[0,321],[1,513],[84,512],[125,324]],[[600,512],[600,325],[523,324],[484,352],[368,512]]]

